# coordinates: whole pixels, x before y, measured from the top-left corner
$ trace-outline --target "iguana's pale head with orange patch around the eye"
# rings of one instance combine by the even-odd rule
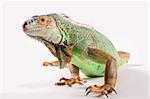
[[[54,18],[50,15],[33,16],[24,22],[23,31],[40,41],[59,43],[62,38]]]

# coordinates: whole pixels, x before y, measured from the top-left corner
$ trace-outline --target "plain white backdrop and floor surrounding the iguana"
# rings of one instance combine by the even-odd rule
[[[69,72],[66,69],[42,67],[43,61],[52,61],[55,58],[43,44],[28,38],[22,31],[23,22],[33,15],[53,12],[65,13],[78,22],[95,27],[105,34],[118,50],[131,54],[129,65],[119,71],[117,89],[120,94],[113,96],[114,98],[147,95],[146,2],[56,1],[3,3],[3,60],[0,65],[3,97],[16,98],[27,94],[28,97],[36,97],[38,93],[39,96],[47,98],[88,98],[84,96],[85,88],[103,81],[103,78],[90,79],[85,86],[73,88],[54,86],[60,77],[69,77]]]

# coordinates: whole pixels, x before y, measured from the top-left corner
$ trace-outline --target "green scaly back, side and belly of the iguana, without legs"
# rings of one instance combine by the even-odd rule
[[[76,44],[72,52],[72,63],[87,76],[103,76],[105,70],[105,62],[97,62],[89,57],[86,50],[89,46],[94,46],[100,49],[114,59],[117,60],[117,66],[125,63],[120,57],[111,43],[111,41],[95,29],[78,26],[68,22],[57,14],[50,14],[56,23],[57,27],[63,35],[63,41],[67,40],[70,44]]]

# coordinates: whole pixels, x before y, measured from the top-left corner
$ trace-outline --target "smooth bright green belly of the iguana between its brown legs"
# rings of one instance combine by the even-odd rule
[[[72,63],[76,65],[86,76],[103,76],[105,64],[96,63],[84,57],[72,56]]]

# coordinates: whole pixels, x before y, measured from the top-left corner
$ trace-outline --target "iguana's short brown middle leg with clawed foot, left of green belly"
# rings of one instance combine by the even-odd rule
[[[70,70],[70,73],[71,73],[71,78],[65,78],[65,77],[62,77],[60,79],[60,81],[58,83],[56,83],[56,85],[68,85],[68,86],[72,86],[73,84],[75,83],[78,83],[78,84],[82,84],[85,83],[86,81],[82,80],[79,76],[79,68],[76,67],[75,65],[73,64],[70,64],[69,65],[69,70]],[[62,82],[63,81],[63,82]]]

